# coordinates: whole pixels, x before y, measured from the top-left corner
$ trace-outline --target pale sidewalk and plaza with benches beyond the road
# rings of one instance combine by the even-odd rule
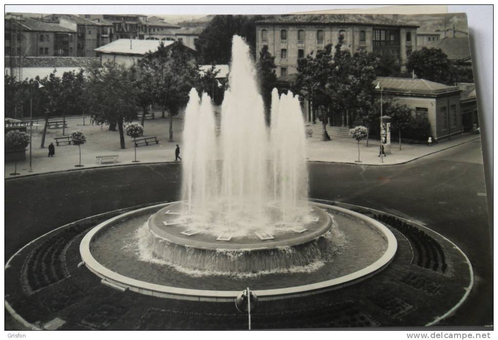
[[[79,162],[78,148],[73,145],[61,145],[55,147],[55,157],[49,158],[48,145],[53,142],[54,137],[62,136],[62,129],[50,129],[47,131],[45,138],[45,148],[40,149],[42,127],[33,129],[33,147],[32,147],[32,168],[33,172],[28,172],[29,168],[29,149],[26,151],[26,160],[17,163],[17,172],[20,175],[12,176],[14,163],[5,164],[5,178],[19,177],[35,173],[86,169],[93,167],[106,167],[113,163],[103,163],[99,165],[96,162],[96,156],[119,155],[119,161],[116,165],[132,164],[134,159],[133,142],[127,136],[124,137],[126,149],[120,148],[119,132],[108,131],[108,126],[89,125],[88,119],[83,126],[82,118],[68,120],[66,136],[72,131],[82,130],[87,137],[87,143],[81,147],[81,164],[85,167],[75,168]],[[182,147],[183,120],[181,118],[173,119],[173,139],[169,140],[169,120],[156,118],[146,120],[144,124],[144,137],[156,136],[159,144],[150,144],[136,148],[136,158],[140,163],[158,163],[174,162],[176,144]],[[28,130],[29,132],[29,130]],[[480,135],[464,135],[455,137],[451,141],[446,141],[432,145],[408,145],[402,144],[402,150],[399,150],[398,144],[391,145],[391,154],[387,154],[381,163],[378,156],[378,141],[371,141],[370,146],[366,146],[366,141],[360,143],[360,160],[362,163],[355,163],[358,160],[357,142],[348,138],[337,138],[332,141],[323,142],[317,137],[306,140],[307,159],[312,162],[334,162],[350,163],[357,165],[393,165],[412,161],[414,159],[427,156],[429,154],[445,150],[462,143],[479,139]],[[387,151],[387,150],[386,150]],[[180,154],[182,156],[182,154]]]

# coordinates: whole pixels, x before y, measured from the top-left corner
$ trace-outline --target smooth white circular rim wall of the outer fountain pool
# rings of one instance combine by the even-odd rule
[[[182,287],[171,287],[160,284],[154,284],[150,282],[145,282],[141,280],[136,280],[125,275],[114,272],[101,263],[99,263],[90,251],[90,245],[92,239],[99,235],[103,230],[115,225],[117,222],[130,218],[137,214],[144,214],[146,212],[152,212],[153,210],[166,206],[170,203],[154,205],[151,207],[146,207],[142,209],[137,209],[124,213],[122,215],[116,216],[106,222],[103,222],[93,228],[85,237],[80,244],[80,253],[82,260],[85,262],[86,267],[95,273],[97,276],[101,277],[103,281],[112,283],[119,287],[124,287],[133,292],[140,294],[151,295],[155,297],[162,298],[173,298],[173,299],[183,299],[183,300],[194,300],[194,301],[217,301],[217,302],[233,302],[233,299],[240,293],[239,291],[232,290],[202,290],[202,289],[188,289]],[[348,209],[339,208],[336,206],[329,206],[325,204],[317,204],[320,207],[327,208],[329,210],[335,210],[341,213],[348,214],[354,218],[358,218],[366,223],[368,223],[370,228],[375,229],[386,241],[386,250],[378,259],[373,261],[372,264],[357,270],[353,273],[335,277],[330,280],[320,280],[311,284],[292,286],[277,289],[260,289],[255,290],[260,300],[277,300],[285,299],[296,296],[307,296],[310,294],[317,294],[324,291],[339,289],[344,286],[348,286],[364,280],[384,269],[392,260],[397,249],[397,242],[394,235],[381,223],[373,220],[372,218],[362,215],[360,213],[350,211]],[[262,277],[264,278],[264,276]],[[195,278],[192,278],[195,280]]]

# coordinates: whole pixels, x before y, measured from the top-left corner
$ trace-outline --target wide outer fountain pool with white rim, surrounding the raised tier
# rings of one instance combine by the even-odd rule
[[[273,300],[316,294],[359,282],[384,269],[397,248],[394,235],[372,218],[348,209],[314,203],[334,215],[348,240],[331,259],[316,267],[312,264],[304,271],[199,276],[195,271],[185,272],[162,262],[143,259],[139,249],[132,244],[133,235],[140,228],[137,223],[146,224],[151,214],[170,204],[130,211],[93,228],[80,244],[86,267],[106,283],[162,298],[228,302],[249,286],[260,300]]]

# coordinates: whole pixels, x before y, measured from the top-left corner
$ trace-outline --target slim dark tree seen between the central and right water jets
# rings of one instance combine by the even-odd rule
[[[256,72],[261,96],[263,98],[266,121],[268,121],[270,117],[271,91],[277,81],[275,68],[275,57],[268,52],[268,45],[263,45],[263,48],[259,51],[259,59],[256,63]]]

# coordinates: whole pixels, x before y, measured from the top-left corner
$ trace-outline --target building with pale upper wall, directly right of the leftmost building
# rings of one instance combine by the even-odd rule
[[[102,37],[104,25],[99,22],[71,14],[51,14],[45,16],[43,21],[58,23],[60,26],[75,30],[79,57],[95,57],[94,50],[105,44]]]

